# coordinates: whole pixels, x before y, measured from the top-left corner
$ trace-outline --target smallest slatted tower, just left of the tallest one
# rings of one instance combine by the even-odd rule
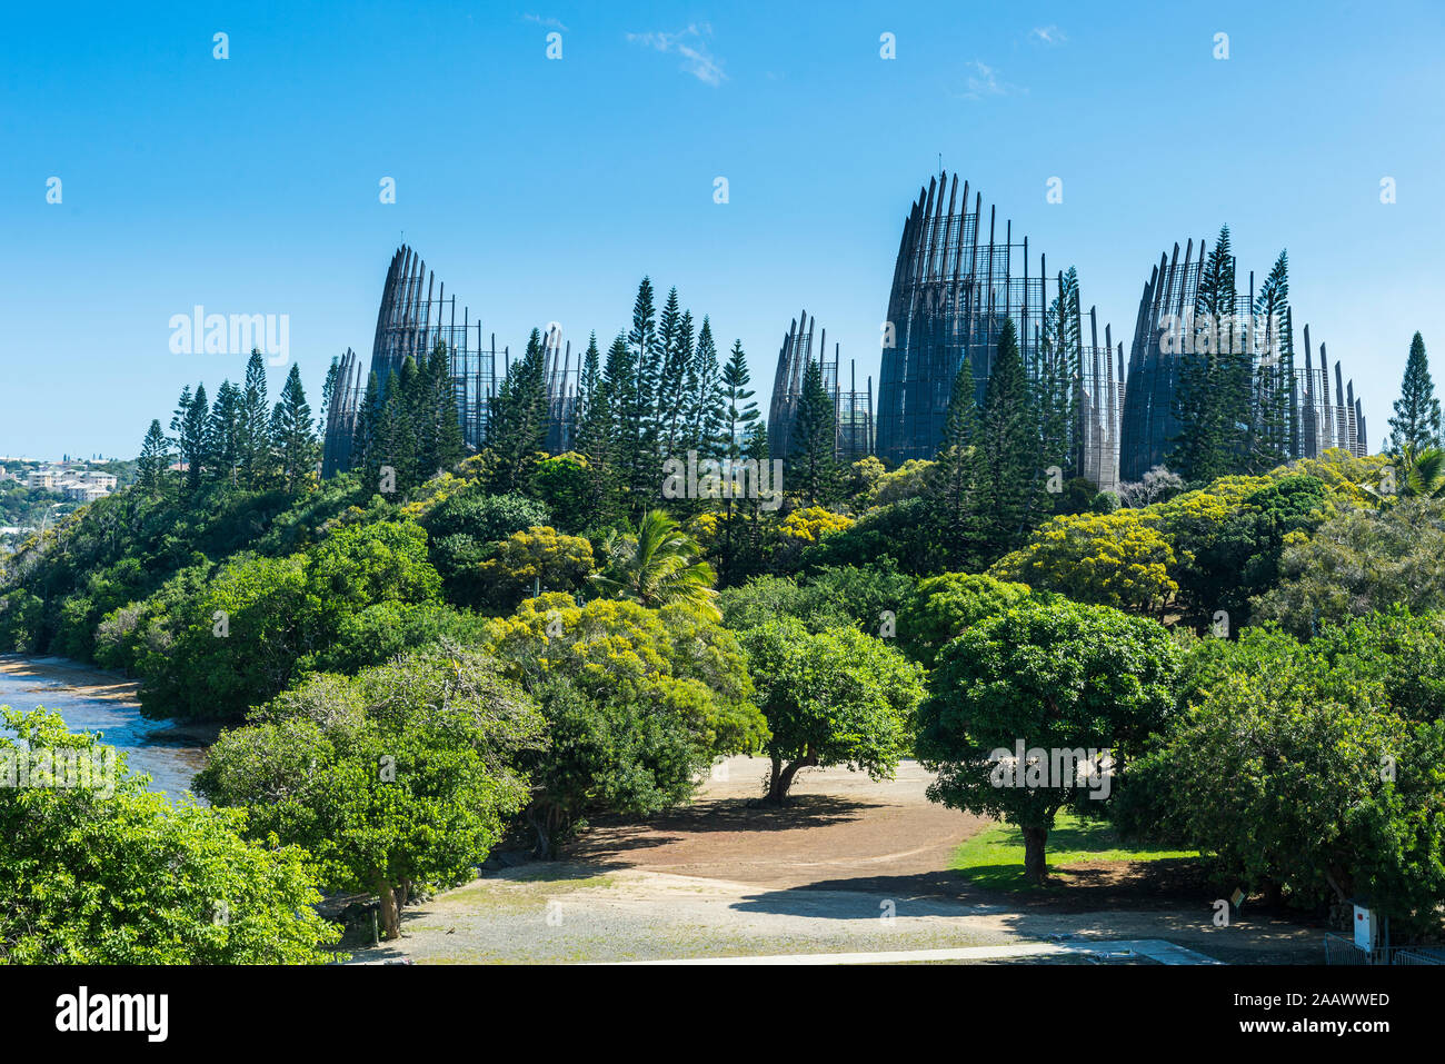
[[[822,370],[822,386],[832,396],[834,428],[837,432],[837,455],[842,463],[857,461],[873,454],[873,377],[866,389],[858,390],[857,369],[848,360],[848,390],[842,390],[838,377],[841,359],[840,344],[828,354],[828,330],[818,330],[818,357],[814,359],[814,331],[816,318],[809,318],[805,309],[793,318],[777,351],[777,372],[773,376],[773,396],[767,409],[767,441],[773,454],[790,455],[793,451],[793,429],[798,421],[798,400],[803,393],[803,372],[816,361]]]

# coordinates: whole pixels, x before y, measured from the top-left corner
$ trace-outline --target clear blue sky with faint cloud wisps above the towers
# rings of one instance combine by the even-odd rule
[[[574,341],[613,335],[650,273],[743,340],[762,400],[803,306],[876,387],[902,224],[939,153],[1051,272],[1078,267],[1126,344],[1175,240],[1228,223],[1259,275],[1287,247],[1296,324],[1344,359],[1373,448],[1412,332],[1445,351],[1438,3],[82,3],[6,19],[0,454],[129,457],[182,385],[240,377],[244,354],[171,351],[171,317],[197,304],[289,315],[319,405],[334,354],[370,357],[403,231],[513,350],[553,319]]]

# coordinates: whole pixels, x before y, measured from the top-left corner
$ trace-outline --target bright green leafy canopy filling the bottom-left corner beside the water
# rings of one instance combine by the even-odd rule
[[[0,707],[0,718],[14,733],[0,733],[0,964],[337,958],[325,947],[340,928],[316,914],[321,895],[298,847],[247,841],[234,810],[172,805],[124,755],[71,734],[58,713]],[[30,775],[17,786],[7,776],[22,759],[48,762],[55,784],[66,779],[62,762],[87,762],[91,785]]]

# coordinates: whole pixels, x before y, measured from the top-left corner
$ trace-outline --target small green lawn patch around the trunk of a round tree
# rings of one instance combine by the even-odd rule
[[[1150,850],[1124,844],[1107,823],[1081,820],[1071,812],[1061,812],[1055,818],[1045,853],[1051,875],[1082,862],[1176,860],[1198,856],[1194,850]],[[978,886],[996,891],[1039,889],[1023,878],[1023,834],[1013,824],[996,824],[962,843],[954,851],[949,867],[962,872]]]

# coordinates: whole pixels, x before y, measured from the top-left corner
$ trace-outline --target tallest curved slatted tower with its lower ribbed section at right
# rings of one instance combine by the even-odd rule
[[[946,204],[945,204],[946,191]],[[1045,256],[1032,272],[1027,239],[1014,243],[1013,223],[1000,231],[997,208],[983,210],[983,194],[948,173],[919,191],[899,244],[889,293],[883,370],[879,379],[877,452],[902,464],[932,458],[944,438],[954,380],[968,357],[974,399],[983,402],[993,373],[998,335],[1014,322],[1026,373],[1036,379],[1049,335],[1048,314],[1062,288],[1049,276]],[[1118,416],[1123,376],[1114,376],[1113,343],[1098,346],[1095,314],[1091,340],[1068,353],[1074,377],[1075,437],[1071,476],[1100,487],[1117,483]],[[1075,332],[1081,330],[1075,328]]]

